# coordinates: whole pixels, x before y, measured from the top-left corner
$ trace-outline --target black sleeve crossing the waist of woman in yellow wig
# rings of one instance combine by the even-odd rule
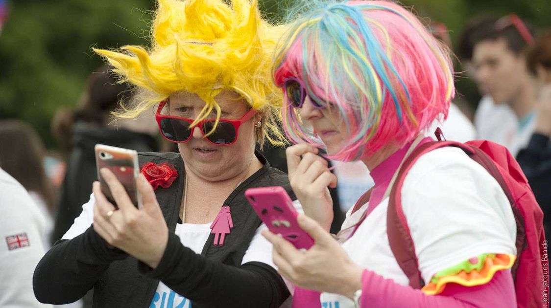
[[[139,270],[202,307],[277,308],[289,297],[271,266],[248,262],[234,267],[208,260],[183,246],[174,233],[159,266],[152,270],[140,262]]]

